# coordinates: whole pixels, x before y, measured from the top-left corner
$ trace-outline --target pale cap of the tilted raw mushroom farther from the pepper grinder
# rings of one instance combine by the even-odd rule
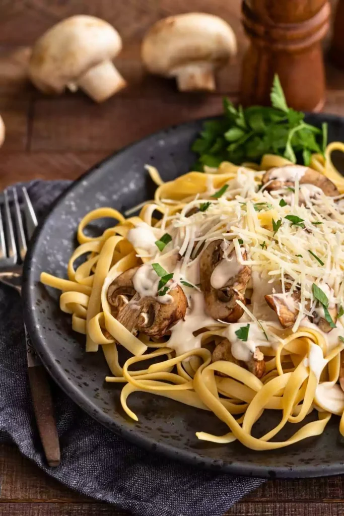
[[[99,18],[78,15],[47,30],[35,43],[29,62],[32,82],[45,93],[62,93],[102,61],[122,49],[117,30]]]

